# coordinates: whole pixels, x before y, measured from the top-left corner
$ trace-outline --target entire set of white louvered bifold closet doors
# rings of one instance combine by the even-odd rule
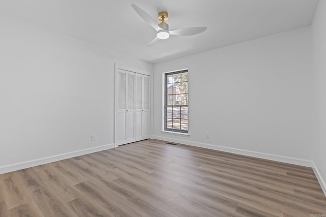
[[[150,138],[150,76],[118,69],[116,145]]]

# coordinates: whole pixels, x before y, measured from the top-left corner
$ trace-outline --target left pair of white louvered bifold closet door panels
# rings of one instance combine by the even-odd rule
[[[135,141],[134,136],[134,100],[135,74],[124,70],[118,71],[118,114],[117,114],[117,145]]]

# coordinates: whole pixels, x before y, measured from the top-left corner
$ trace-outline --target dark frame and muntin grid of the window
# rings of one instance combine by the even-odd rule
[[[174,75],[180,74],[180,80],[176,81],[174,79]],[[186,74],[186,76],[184,75]],[[172,83],[168,81],[169,76],[173,76]],[[182,77],[185,76],[185,77]],[[186,78],[186,80],[182,80],[182,78]],[[175,72],[169,72],[165,73],[164,76],[164,85],[165,85],[165,93],[164,93],[164,130],[170,131],[170,132],[177,132],[177,133],[185,133],[187,134],[189,131],[189,121],[188,121],[188,70],[181,70],[181,71],[175,71]],[[168,91],[168,87],[172,85],[172,94],[171,90]],[[175,86],[179,85],[179,91],[176,92]],[[171,98],[172,97],[172,98]],[[170,98],[170,100],[168,100]],[[179,101],[176,101],[174,99],[179,98]],[[171,105],[172,101],[172,105]],[[170,104],[169,104],[170,102]],[[178,102],[178,104],[175,104]],[[177,111],[176,108],[179,108],[179,114],[174,115],[174,112]],[[169,115],[168,111],[172,111],[172,113]],[[177,116],[177,117],[175,117]],[[179,117],[178,117],[179,116]],[[172,127],[168,126],[168,120],[172,121]],[[176,124],[176,127],[174,127],[174,123]],[[180,126],[180,127],[178,127]]]

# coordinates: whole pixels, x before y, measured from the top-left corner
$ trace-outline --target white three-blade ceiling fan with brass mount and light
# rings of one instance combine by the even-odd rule
[[[201,27],[187,27],[187,28],[169,30],[169,24],[165,22],[169,18],[168,12],[161,11],[158,13],[158,20],[160,20],[161,22],[157,24],[154,21],[154,19],[143,9],[141,9],[140,7],[134,4],[131,4],[131,6],[135,10],[135,12],[137,12],[139,16],[141,16],[150,26],[155,28],[157,32],[156,38],[153,39],[150,43],[148,43],[147,46],[153,45],[155,42],[157,42],[160,39],[168,39],[170,35],[193,36],[202,33],[207,29],[206,26],[201,26]]]

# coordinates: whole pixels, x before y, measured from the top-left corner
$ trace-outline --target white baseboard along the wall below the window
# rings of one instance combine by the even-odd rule
[[[288,163],[288,164],[313,167],[312,161],[305,160],[305,159],[291,158],[291,157],[286,157],[286,156],[279,156],[276,154],[262,153],[262,152],[243,150],[243,149],[238,149],[238,148],[230,148],[230,147],[225,147],[225,146],[220,146],[220,145],[199,143],[199,142],[187,141],[187,140],[182,140],[182,139],[173,139],[173,138],[164,137],[164,136],[153,135],[152,138],[158,139],[158,140],[164,140],[164,141],[168,141],[168,142],[176,142],[176,143],[180,143],[180,144],[201,147],[201,148],[225,151],[225,152],[229,152],[229,153],[242,154],[244,156],[262,158],[262,159],[271,160],[271,161],[278,161],[278,162],[283,162],[283,163]]]

